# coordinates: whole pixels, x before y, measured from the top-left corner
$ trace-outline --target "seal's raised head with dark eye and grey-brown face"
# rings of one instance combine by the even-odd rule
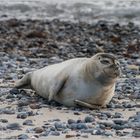
[[[120,76],[120,64],[114,55],[109,53],[98,53],[93,56],[93,59],[96,69],[95,77],[101,82],[116,81]]]

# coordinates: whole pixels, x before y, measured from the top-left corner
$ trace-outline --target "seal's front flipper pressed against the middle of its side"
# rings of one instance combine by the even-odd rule
[[[49,101],[51,101],[55,95],[59,94],[63,90],[67,80],[67,74],[61,73],[56,76],[55,82],[52,84],[49,90]]]

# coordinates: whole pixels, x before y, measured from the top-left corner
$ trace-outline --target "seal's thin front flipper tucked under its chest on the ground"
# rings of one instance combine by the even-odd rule
[[[90,109],[100,109],[101,108],[98,105],[92,105],[92,104],[89,104],[89,103],[86,103],[86,102],[83,102],[80,100],[74,100],[74,102],[76,105],[83,106],[83,107],[90,108]]]

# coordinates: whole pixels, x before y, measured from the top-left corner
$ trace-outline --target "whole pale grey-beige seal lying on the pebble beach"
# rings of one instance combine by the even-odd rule
[[[120,72],[114,55],[98,53],[27,73],[15,87],[30,87],[40,96],[65,106],[103,107],[114,95]]]

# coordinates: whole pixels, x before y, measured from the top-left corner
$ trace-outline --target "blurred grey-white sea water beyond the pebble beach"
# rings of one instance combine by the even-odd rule
[[[140,20],[139,0],[0,0],[0,19],[54,19],[135,22]]]

